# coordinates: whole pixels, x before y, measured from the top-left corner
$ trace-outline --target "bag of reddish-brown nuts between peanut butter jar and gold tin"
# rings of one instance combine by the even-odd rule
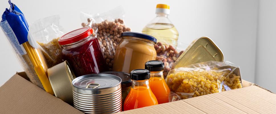
[[[164,71],[163,75],[166,78],[167,74],[171,70],[173,63],[177,60],[177,58],[183,53],[183,50],[178,52],[175,47],[171,45],[163,45],[161,42],[157,42],[154,45],[157,56],[156,60],[160,60],[164,62]]]

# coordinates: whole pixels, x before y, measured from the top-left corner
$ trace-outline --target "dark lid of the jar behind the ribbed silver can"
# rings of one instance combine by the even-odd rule
[[[101,72],[100,74],[112,74],[118,76],[122,79],[122,88],[132,86],[132,81],[130,80],[130,74],[126,72],[117,72],[117,71],[108,71],[108,72]]]

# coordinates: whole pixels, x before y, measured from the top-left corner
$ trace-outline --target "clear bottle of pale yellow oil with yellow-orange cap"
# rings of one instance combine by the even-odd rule
[[[142,33],[151,35],[165,45],[177,46],[178,31],[168,19],[169,5],[156,5],[156,17],[143,28]]]

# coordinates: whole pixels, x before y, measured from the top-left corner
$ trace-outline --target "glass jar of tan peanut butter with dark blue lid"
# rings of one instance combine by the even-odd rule
[[[145,63],[156,59],[156,38],[137,32],[123,32],[122,42],[116,47],[113,71],[131,72],[143,69]]]

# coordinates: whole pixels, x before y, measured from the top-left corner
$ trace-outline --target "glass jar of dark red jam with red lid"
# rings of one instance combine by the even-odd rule
[[[108,71],[97,38],[90,27],[79,28],[62,36],[62,58],[72,66],[76,77]]]

